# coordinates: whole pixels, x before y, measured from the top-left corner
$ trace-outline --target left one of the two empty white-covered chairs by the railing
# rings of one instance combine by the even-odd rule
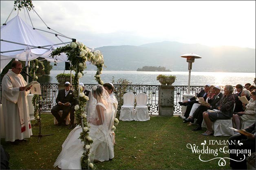
[[[121,121],[133,121],[135,95],[133,93],[124,94],[124,104],[121,106],[120,117]]]

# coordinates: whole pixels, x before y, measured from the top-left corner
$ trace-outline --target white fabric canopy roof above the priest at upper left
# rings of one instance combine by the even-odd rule
[[[4,67],[15,58],[16,60],[28,61],[43,57],[51,62],[68,62],[67,56],[62,54],[56,58],[49,57],[52,50],[60,44],[54,44],[49,39],[33,29],[18,15],[1,26],[1,72]],[[70,43],[70,42],[68,42]]]

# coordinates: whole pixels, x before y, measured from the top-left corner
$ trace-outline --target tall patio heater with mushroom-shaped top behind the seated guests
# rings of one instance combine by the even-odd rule
[[[182,98],[183,98],[183,101],[184,101],[184,100],[188,100],[191,97],[193,97],[193,95],[190,94],[190,74],[191,74],[191,70],[192,70],[192,62],[195,61],[195,58],[202,58],[202,57],[200,57],[197,54],[193,54],[193,53],[183,54],[181,57],[182,58],[187,58],[187,62],[188,62],[188,93],[183,94]],[[186,109],[187,109],[187,106],[182,106],[182,116],[184,116],[184,113],[185,113]]]

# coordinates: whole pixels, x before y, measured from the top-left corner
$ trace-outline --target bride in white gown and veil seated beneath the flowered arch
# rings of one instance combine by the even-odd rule
[[[90,125],[89,136],[93,140],[90,149],[90,162],[108,161],[114,157],[111,128],[114,114],[111,99],[102,85],[93,86],[89,93],[87,121]],[[79,139],[82,127],[75,127],[62,144],[62,151],[57,157],[54,167],[61,169],[81,169],[81,157],[84,143]]]

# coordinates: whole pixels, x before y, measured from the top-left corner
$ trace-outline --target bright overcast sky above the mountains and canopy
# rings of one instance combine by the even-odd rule
[[[1,25],[13,2],[0,1]],[[255,48],[255,0],[32,2],[47,26],[88,47],[178,41]],[[30,13],[34,27],[46,30]],[[15,15],[17,11],[8,20]],[[29,22],[24,11],[19,15]]]

